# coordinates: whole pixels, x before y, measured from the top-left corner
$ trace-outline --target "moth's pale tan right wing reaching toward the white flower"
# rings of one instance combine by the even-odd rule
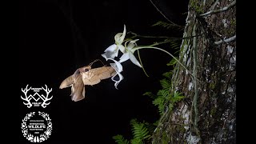
[[[111,66],[102,66],[82,72],[82,81],[84,85],[96,85],[102,79],[110,78],[115,74],[115,70]]]

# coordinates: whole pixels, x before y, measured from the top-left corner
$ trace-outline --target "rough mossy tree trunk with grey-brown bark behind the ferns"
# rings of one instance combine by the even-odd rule
[[[190,0],[171,92],[152,143],[236,143],[235,0]],[[190,37],[190,38],[187,38]]]

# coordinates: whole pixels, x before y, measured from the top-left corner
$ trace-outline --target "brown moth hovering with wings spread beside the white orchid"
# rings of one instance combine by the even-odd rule
[[[97,61],[98,59],[94,62]],[[116,71],[111,66],[102,66],[92,69],[94,62],[91,62],[88,66],[78,68],[74,74],[66,78],[59,86],[60,89],[71,86],[70,96],[72,101],[78,102],[85,98],[86,85],[96,85],[101,82],[102,79],[110,78],[116,74]]]

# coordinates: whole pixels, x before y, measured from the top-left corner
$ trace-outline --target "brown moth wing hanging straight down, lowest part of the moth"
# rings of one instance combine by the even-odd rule
[[[74,78],[74,84],[71,87],[71,99],[74,102],[78,102],[80,100],[82,100],[83,98],[85,98],[85,86],[83,85],[82,82],[82,75],[78,74],[76,75],[76,77]]]

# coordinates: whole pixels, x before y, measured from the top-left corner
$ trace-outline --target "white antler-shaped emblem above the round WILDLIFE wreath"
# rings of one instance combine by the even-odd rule
[[[23,102],[24,105],[26,105],[28,108],[30,108],[31,106],[33,106],[32,103],[30,102],[31,99],[34,99],[35,102],[38,102],[39,99],[42,99],[42,104],[41,104],[41,106],[42,106],[43,108],[46,108],[46,106],[48,106],[48,105],[50,104],[50,102],[48,102],[48,101],[50,101],[50,99],[53,98],[53,96],[51,96],[50,98],[48,98],[50,92],[51,92],[53,89],[52,89],[52,88],[49,89],[49,88],[45,85],[46,88],[44,88],[44,87],[42,86],[42,90],[45,90],[46,96],[44,96],[43,94],[40,95],[40,94],[38,94],[37,92],[34,93],[34,95],[30,94],[29,96],[27,96],[27,92],[31,89],[31,86],[30,86],[30,88],[28,88],[28,86],[29,86],[29,85],[26,85],[26,88],[22,89],[22,92],[25,94],[24,97],[21,96],[21,98],[25,101],[25,102]],[[37,96],[38,98],[34,98],[35,96]]]

